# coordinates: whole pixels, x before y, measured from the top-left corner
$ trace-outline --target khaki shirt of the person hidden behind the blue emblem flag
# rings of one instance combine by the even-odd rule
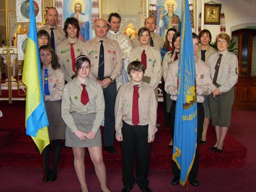
[[[205,95],[211,93],[212,80],[210,78],[209,67],[197,56],[194,56],[196,65],[196,87],[197,87],[197,102],[203,103]],[[170,65],[164,89],[171,95],[171,100],[177,100],[177,81],[178,81],[178,60]]]

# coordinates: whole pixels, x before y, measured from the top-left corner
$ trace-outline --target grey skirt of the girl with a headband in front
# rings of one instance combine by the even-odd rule
[[[74,122],[79,130],[89,133],[93,128],[93,123],[96,118],[96,113],[81,114],[75,111],[70,112]],[[101,146],[101,133],[98,129],[94,139],[80,140],[69,128],[66,127],[65,145],[67,147],[98,147]]]

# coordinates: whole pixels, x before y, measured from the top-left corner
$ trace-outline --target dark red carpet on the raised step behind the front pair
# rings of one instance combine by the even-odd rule
[[[8,130],[12,134],[12,143],[0,149],[0,165],[3,167],[41,167],[41,156],[35,152],[35,144],[31,137],[25,135],[25,102],[14,101],[13,104],[8,104],[7,101],[0,101],[0,106],[0,110],[3,112],[3,117],[0,118],[0,131]],[[162,103],[159,104],[158,122],[163,124]],[[213,127],[209,127],[207,139],[207,145],[200,145],[200,168],[237,168],[245,165],[247,149],[231,135],[227,135],[225,149],[220,154],[208,150],[208,147],[215,142]],[[167,148],[169,142],[170,129],[168,127],[160,127],[156,134],[156,139],[152,143],[151,169],[171,168],[172,150]],[[114,146],[118,150],[117,154],[112,155],[103,150],[104,162],[107,168],[121,167],[120,143],[115,140]],[[92,167],[89,156],[86,156],[86,167]],[[73,168],[71,148],[62,148],[59,168]]]

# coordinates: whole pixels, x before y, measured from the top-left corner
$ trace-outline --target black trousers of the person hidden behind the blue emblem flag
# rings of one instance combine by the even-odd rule
[[[175,110],[176,110],[176,101],[173,101],[171,107],[171,126],[174,127],[175,124]],[[198,170],[199,170],[199,145],[200,145],[200,138],[202,135],[203,129],[203,120],[204,120],[204,109],[202,103],[197,103],[197,148],[196,148],[196,155],[194,159],[193,166],[189,173],[189,178],[197,178]],[[174,129],[175,133],[175,129]],[[177,164],[172,161],[172,173],[175,177],[179,177],[181,175],[181,171],[178,169]]]

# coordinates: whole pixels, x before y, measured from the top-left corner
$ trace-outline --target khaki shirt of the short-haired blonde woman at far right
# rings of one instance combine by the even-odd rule
[[[219,90],[221,92],[229,91],[238,80],[238,60],[237,56],[229,52],[227,49],[223,53],[216,52],[209,56],[207,65],[210,67],[211,78],[213,79],[215,73],[215,65],[219,58],[219,54],[222,54],[219,73],[217,76],[216,83],[221,85]],[[217,87],[212,84],[211,90],[214,91]]]

